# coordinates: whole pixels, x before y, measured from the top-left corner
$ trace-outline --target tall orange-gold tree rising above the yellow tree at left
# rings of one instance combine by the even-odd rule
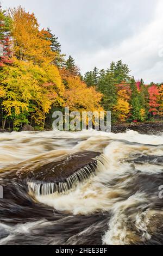
[[[12,18],[12,40],[14,54],[19,60],[31,60],[34,64],[51,63],[55,52],[51,50],[52,42],[47,40],[51,35],[45,29],[39,31],[39,23],[34,14],[18,7],[10,9]]]

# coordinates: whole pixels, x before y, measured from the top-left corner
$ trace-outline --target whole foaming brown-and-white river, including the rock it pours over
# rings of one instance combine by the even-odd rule
[[[0,244],[161,244],[162,150],[161,133],[0,133]]]

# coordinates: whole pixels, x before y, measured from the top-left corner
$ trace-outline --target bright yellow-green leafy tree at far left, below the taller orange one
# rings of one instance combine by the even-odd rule
[[[64,87],[59,71],[53,65],[40,67],[15,59],[12,65],[6,65],[0,71],[0,78],[3,118],[14,120],[15,129],[29,121],[43,126],[52,103],[63,103]]]

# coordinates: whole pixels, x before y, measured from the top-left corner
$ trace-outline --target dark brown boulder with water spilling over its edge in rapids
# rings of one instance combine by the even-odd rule
[[[95,173],[96,157],[100,154],[94,151],[83,151],[68,155],[65,159],[22,172],[20,176],[27,181],[36,194],[65,192]]]

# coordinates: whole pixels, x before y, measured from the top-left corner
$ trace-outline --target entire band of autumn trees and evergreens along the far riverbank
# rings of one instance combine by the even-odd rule
[[[162,83],[135,81],[122,60],[82,75],[51,29],[40,29],[22,7],[0,7],[0,25],[1,131],[51,130],[52,113],[67,106],[80,113],[111,111],[113,131],[162,121]]]

